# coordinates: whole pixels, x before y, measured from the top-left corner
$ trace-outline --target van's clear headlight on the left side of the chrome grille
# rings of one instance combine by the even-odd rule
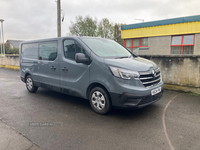
[[[136,71],[125,70],[110,66],[110,70],[115,77],[130,80],[131,78],[139,79],[140,74]]]

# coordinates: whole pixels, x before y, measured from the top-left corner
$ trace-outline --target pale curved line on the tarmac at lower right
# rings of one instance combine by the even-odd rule
[[[167,138],[167,142],[171,148],[171,150],[174,150],[174,147],[172,145],[172,142],[170,141],[169,139],[169,136],[168,136],[168,133],[167,133],[167,128],[166,128],[166,122],[165,122],[165,114],[166,114],[166,110],[169,106],[169,104],[178,96],[179,94],[175,95],[168,103],[167,105],[165,106],[165,109],[164,109],[164,112],[163,112],[163,130],[165,132],[165,137]]]

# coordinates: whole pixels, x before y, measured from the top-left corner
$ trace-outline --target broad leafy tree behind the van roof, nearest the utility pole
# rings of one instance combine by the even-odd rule
[[[77,16],[75,22],[71,21],[69,30],[70,35],[78,36],[77,31],[82,36],[97,36],[97,19],[92,19],[90,16],[85,18]]]

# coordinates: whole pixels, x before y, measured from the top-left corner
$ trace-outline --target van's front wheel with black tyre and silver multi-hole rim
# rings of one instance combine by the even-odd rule
[[[104,115],[112,109],[107,92],[100,87],[95,87],[90,91],[89,101],[92,109],[98,114]]]

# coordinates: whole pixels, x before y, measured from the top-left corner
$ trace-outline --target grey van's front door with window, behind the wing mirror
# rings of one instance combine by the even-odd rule
[[[85,53],[85,50],[76,41],[65,39],[60,62],[60,84],[63,93],[86,98],[89,85],[89,66],[76,63],[76,53]]]

